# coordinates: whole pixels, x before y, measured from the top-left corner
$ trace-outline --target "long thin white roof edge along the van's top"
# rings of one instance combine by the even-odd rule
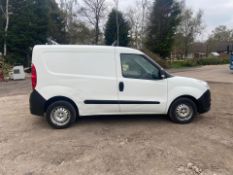
[[[96,46],[96,45],[36,45],[33,50],[47,50],[47,49],[88,49],[93,51],[109,51],[117,49],[119,52],[142,54],[141,51],[128,47],[115,46]]]

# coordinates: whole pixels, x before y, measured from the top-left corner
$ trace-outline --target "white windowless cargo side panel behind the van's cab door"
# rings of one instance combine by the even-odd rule
[[[64,96],[74,101],[80,115],[118,112],[118,105],[85,105],[87,99],[117,100],[115,57],[112,48],[36,47],[33,64],[37,70],[36,90],[49,100]]]

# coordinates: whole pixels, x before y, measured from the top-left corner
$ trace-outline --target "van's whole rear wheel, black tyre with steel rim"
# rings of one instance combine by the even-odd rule
[[[46,112],[46,120],[56,129],[64,129],[76,121],[76,110],[67,101],[57,101],[49,105]]]

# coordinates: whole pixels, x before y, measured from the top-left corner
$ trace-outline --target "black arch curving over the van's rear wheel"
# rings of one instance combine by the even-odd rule
[[[56,96],[56,97],[52,97],[50,98],[48,101],[46,101],[45,106],[44,106],[44,111],[47,111],[49,105],[51,105],[54,102],[57,101],[66,101],[69,102],[76,110],[76,114],[79,115],[79,109],[78,106],[76,105],[76,103],[71,100],[70,98],[64,97],[64,96]]]

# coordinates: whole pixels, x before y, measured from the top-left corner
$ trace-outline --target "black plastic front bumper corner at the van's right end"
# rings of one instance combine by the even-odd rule
[[[198,101],[198,112],[200,114],[208,112],[211,108],[210,90],[207,90],[197,101]]]

